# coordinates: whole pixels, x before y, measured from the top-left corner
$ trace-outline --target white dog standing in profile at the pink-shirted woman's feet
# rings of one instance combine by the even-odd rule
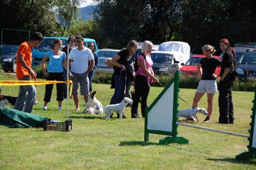
[[[121,103],[106,105],[105,107],[101,106],[102,108],[104,108],[104,112],[106,113],[106,116],[104,118],[110,119],[109,116],[111,115],[111,113],[116,112],[116,113],[119,113],[119,118],[122,119],[122,113],[124,111],[126,103],[132,104],[132,99],[125,97]]]

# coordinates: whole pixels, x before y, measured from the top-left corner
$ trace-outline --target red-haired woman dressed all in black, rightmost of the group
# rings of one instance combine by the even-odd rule
[[[219,82],[219,122],[220,124],[234,124],[234,108],[232,102],[232,87],[234,81],[234,72],[230,73],[230,68],[236,66],[236,53],[230,46],[227,39],[219,41],[220,48],[224,52],[221,61],[221,72]]]

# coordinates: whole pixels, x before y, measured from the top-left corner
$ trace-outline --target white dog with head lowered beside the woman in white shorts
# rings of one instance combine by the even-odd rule
[[[203,108],[191,107],[190,109],[179,110],[179,113],[177,116],[178,117],[180,117],[180,116],[186,117],[187,118],[186,120],[192,119],[193,121],[196,121],[195,118],[197,118],[197,121],[199,121],[197,113],[202,113],[204,115],[208,114],[208,112]]]

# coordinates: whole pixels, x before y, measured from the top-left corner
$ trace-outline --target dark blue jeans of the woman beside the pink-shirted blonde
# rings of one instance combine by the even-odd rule
[[[127,88],[129,86],[129,82],[130,82],[128,78],[126,79],[126,82],[125,82],[125,79],[119,82],[119,74],[114,75],[114,81],[115,81],[115,92],[109,104],[117,104],[122,102],[125,96],[124,89],[125,87]]]

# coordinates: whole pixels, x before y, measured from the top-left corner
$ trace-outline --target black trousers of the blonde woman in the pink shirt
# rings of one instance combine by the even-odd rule
[[[132,118],[138,116],[139,99],[141,98],[141,115],[145,117],[145,109],[147,107],[147,99],[150,87],[148,87],[147,78],[142,75],[135,77],[135,99],[132,102]]]

